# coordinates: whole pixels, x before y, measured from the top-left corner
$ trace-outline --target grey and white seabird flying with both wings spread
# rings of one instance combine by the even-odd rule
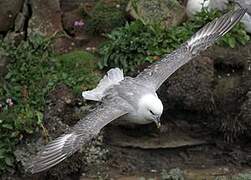
[[[241,8],[213,20],[180,48],[153,63],[135,78],[124,77],[119,68],[109,70],[95,89],[82,93],[85,99],[100,101],[101,104],[38,152],[28,169],[38,173],[55,166],[115,119],[137,124],[154,122],[159,127],[163,105],[156,94],[157,89],[177,69],[224,36],[245,13],[246,9]]]

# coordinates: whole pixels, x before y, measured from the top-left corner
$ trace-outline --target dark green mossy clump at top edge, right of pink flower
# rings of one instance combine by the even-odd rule
[[[116,7],[115,3],[109,4],[100,0],[91,11],[90,18],[87,19],[87,31],[92,34],[107,33],[123,26],[126,22],[124,5],[120,1],[117,5]]]

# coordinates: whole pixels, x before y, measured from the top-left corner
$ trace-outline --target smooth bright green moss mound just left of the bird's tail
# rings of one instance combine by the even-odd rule
[[[57,74],[75,93],[94,88],[100,79],[100,73],[95,70],[97,59],[90,53],[74,51],[56,59]]]

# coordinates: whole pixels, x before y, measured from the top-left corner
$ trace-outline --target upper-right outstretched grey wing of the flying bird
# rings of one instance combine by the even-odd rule
[[[146,68],[136,79],[144,84],[153,86],[157,90],[177,69],[231,30],[240,21],[245,12],[246,9],[238,9],[208,23],[179,49]]]

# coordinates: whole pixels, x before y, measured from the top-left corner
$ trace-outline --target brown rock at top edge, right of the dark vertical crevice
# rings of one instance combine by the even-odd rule
[[[59,0],[33,0],[31,11],[28,33],[51,36],[63,31]]]

